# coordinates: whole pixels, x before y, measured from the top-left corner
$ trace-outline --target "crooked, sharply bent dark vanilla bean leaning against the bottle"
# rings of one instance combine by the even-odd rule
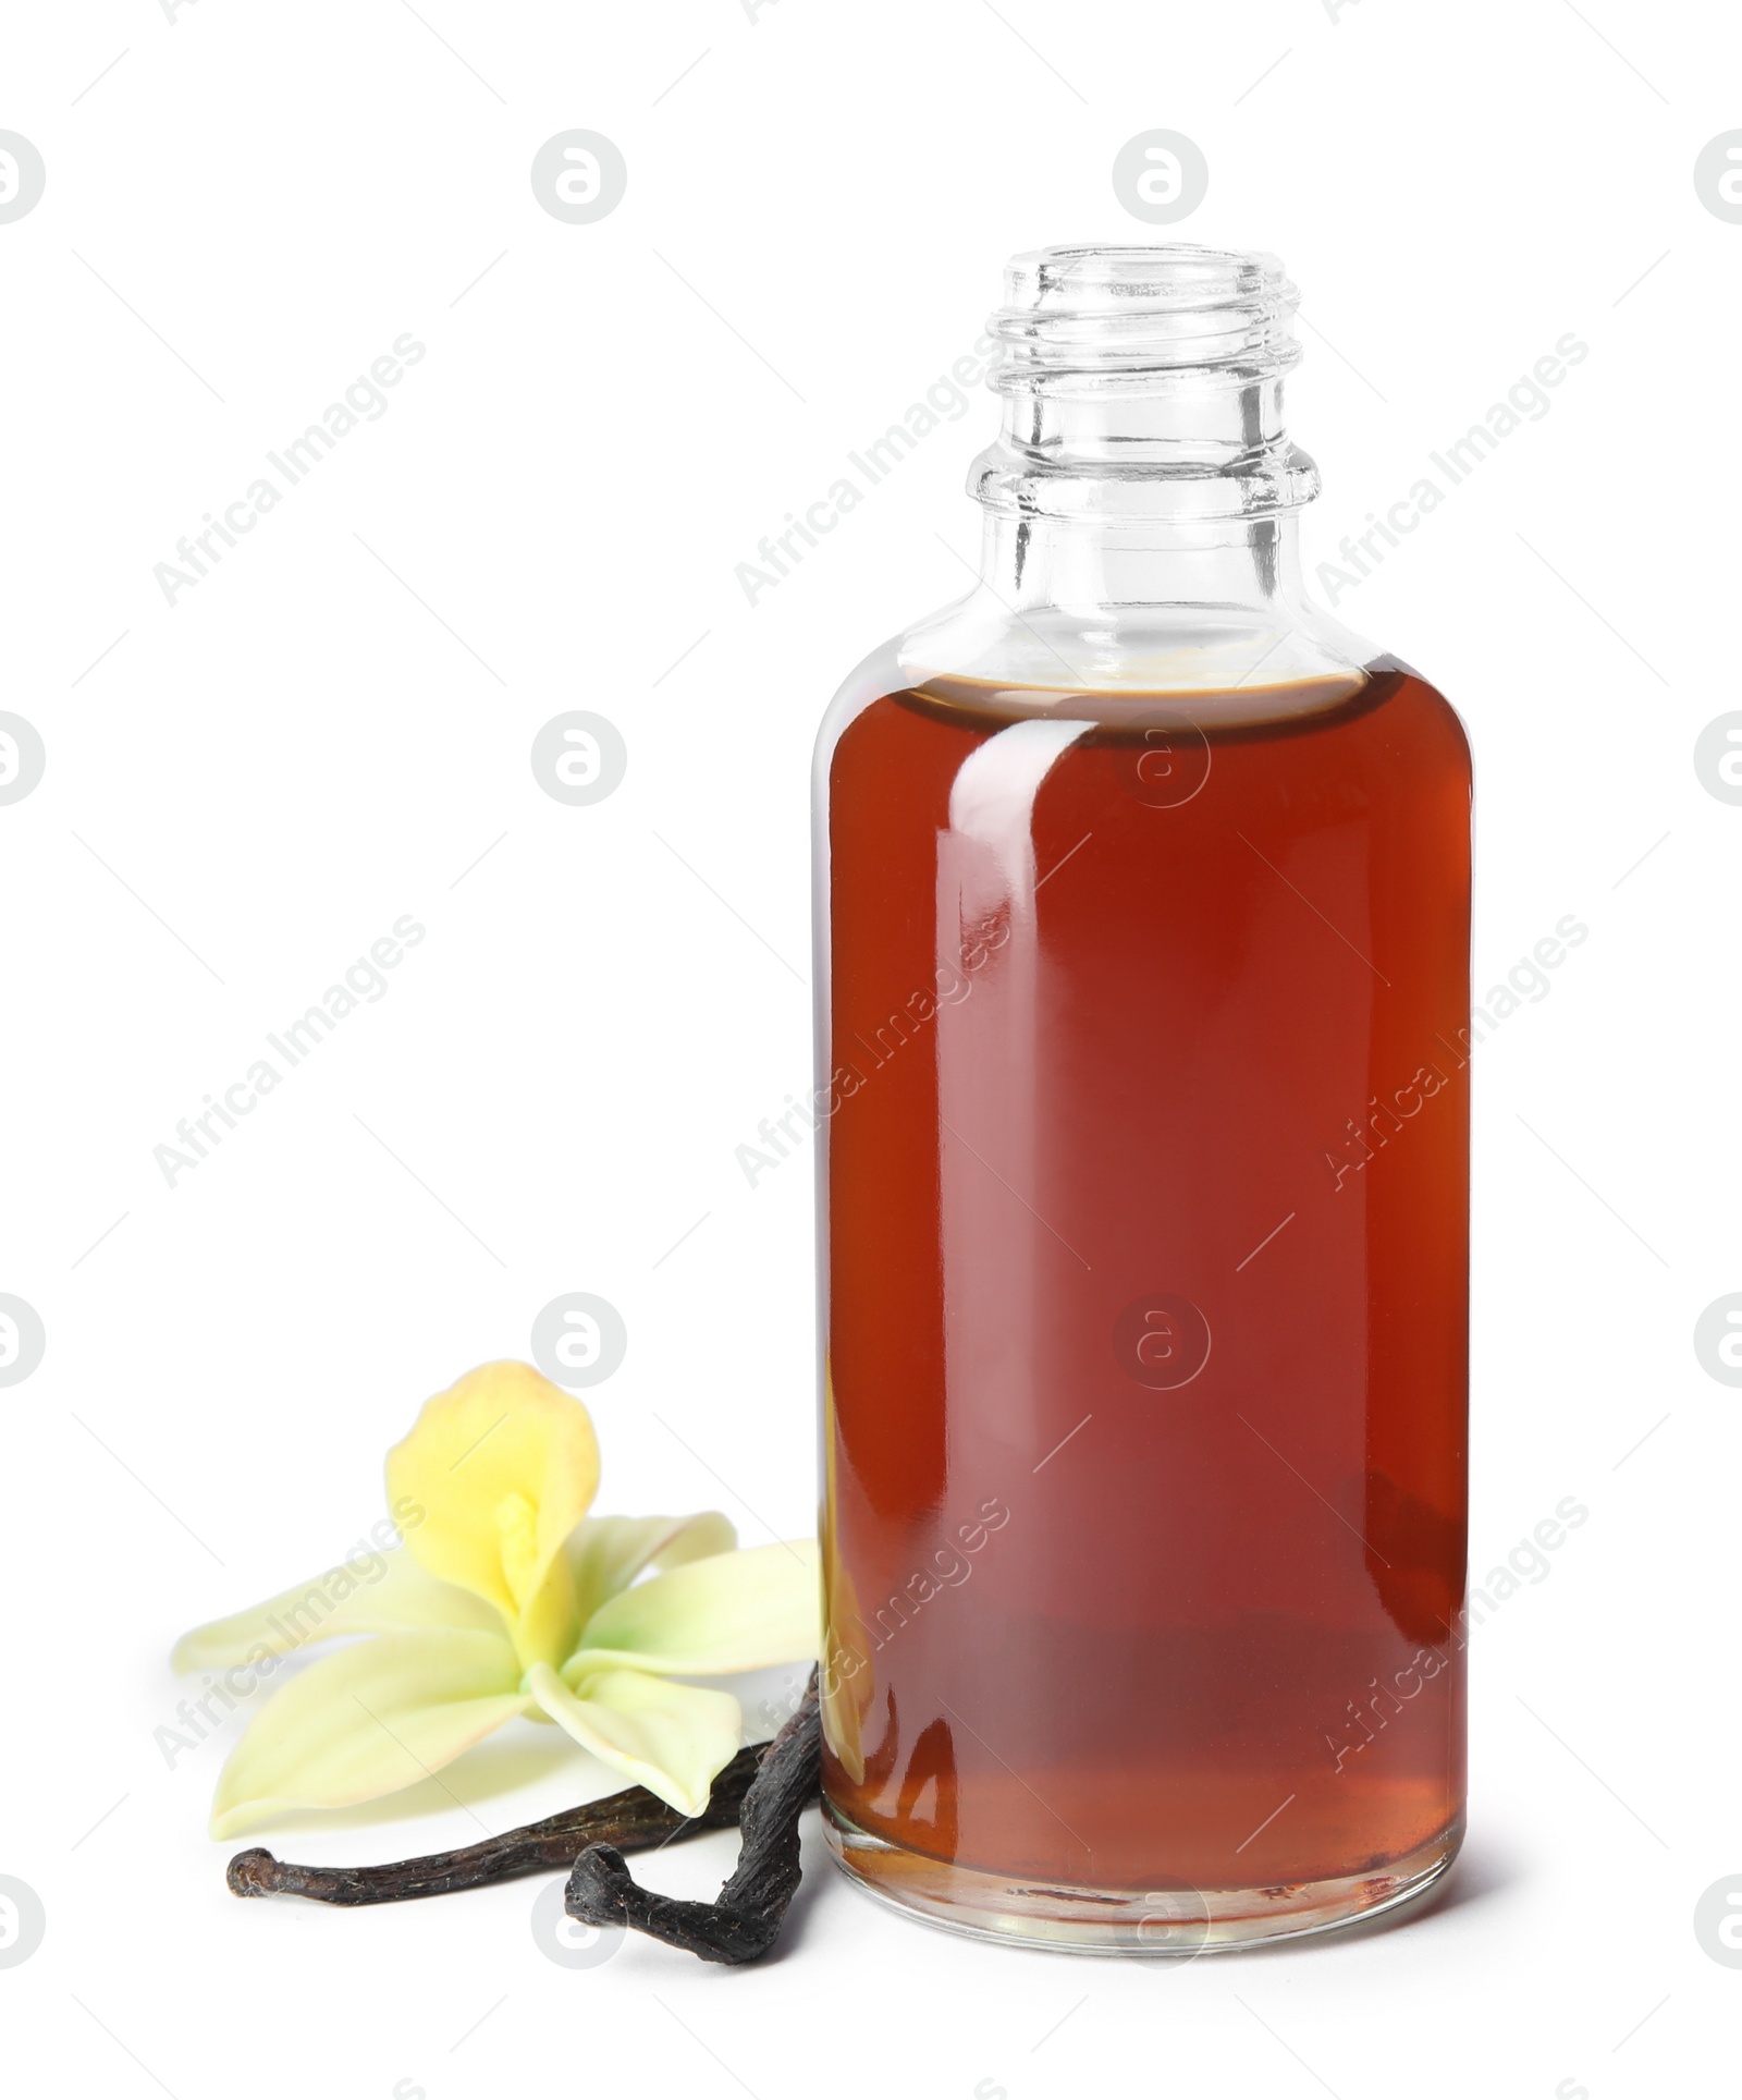
[[[680,1903],[642,1888],[623,1854],[594,1842],[569,1875],[567,1911],[588,1926],[634,1926],[703,1961],[756,1961],[774,1945],[800,1884],[798,1819],[816,1800],[823,1764],[816,1672],[791,1720],[768,1745],[743,1800],[743,1850],[714,1903]]]

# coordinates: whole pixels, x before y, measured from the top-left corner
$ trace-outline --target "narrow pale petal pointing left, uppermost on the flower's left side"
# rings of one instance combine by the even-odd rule
[[[323,1575],[294,1583],[264,1604],[237,1611],[183,1634],[170,1661],[176,1670],[227,1670],[290,1655],[292,1648],[336,1640],[340,1634],[411,1634],[453,1628],[500,1634],[502,1615],[483,1598],[437,1581],[418,1562],[392,1548],[353,1556]]]

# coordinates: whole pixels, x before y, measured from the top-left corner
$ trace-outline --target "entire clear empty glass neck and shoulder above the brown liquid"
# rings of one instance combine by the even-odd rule
[[[1270,256],[1047,248],[989,321],[1003,407],[970,472],[980,588],[902,664],[991,685],[1224,691],[1343,678],[1356,636],[1305,594],[1289,441],[1295,288]]]

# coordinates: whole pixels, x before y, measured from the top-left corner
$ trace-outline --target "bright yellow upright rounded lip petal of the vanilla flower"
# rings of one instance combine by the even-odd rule
[[[502,1613],[523,1661],[558,1659],[575,1630],[562,1541],[598,1489],[586,1407],[529,1363],[487,1363],[424,1405],[386,1455],[409,1552]]]

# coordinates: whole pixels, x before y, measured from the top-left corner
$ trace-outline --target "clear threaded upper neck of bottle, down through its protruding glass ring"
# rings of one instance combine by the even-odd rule
[[[1295,288],[1274,256],[1186,244],[1041,248],[1005,267],[989,378],[1003,430],[986,510],[1033,519],[1266,519],[1318,494],[1289,443]]]

